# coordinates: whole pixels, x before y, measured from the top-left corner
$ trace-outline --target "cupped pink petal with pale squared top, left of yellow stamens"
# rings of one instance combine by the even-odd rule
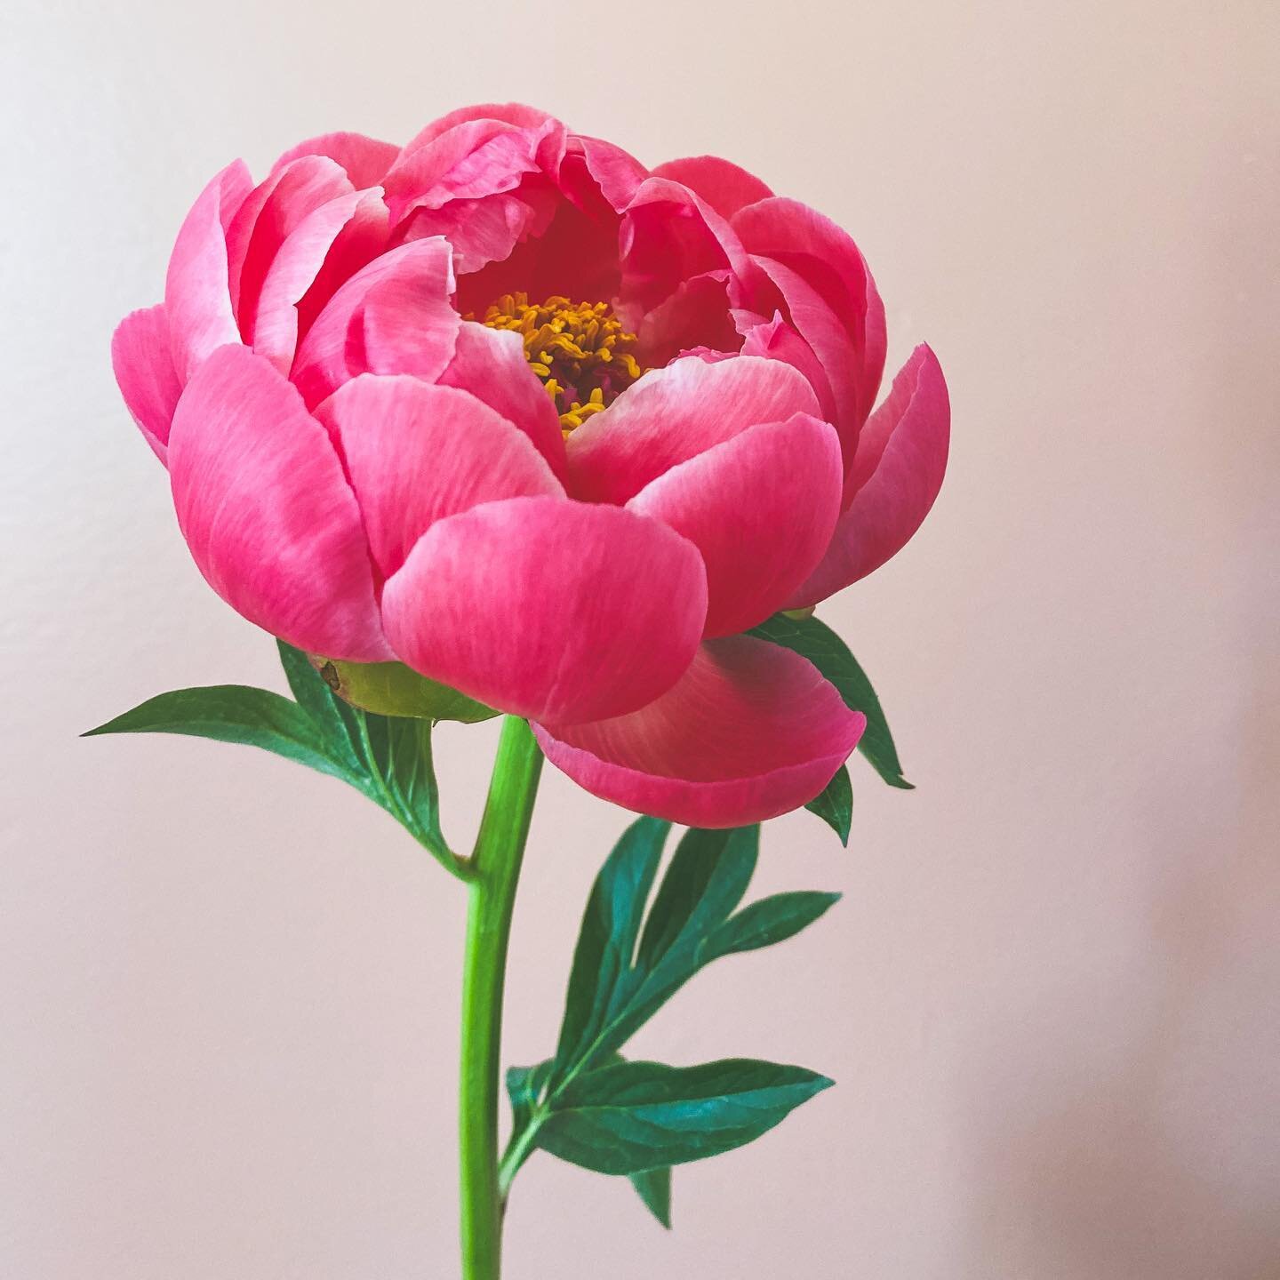
[[[298,346],[291,376],[307,407],[357,374],[434,381],[453,360],[461,324],[452,292],[449,246],[442,239],[402,244],[357,271]]]

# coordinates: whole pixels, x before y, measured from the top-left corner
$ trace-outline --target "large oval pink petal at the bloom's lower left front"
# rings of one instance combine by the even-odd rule
[[[229,346],[200,366],[174,415],[169,474],[191,554],[232,608],[311,653],[392,657],[338,454],[261,356]]]

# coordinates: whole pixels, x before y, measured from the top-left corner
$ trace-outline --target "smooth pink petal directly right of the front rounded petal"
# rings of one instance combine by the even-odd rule
[[[708,636],[776,613],[813,572],[840,517],[835,429],[796,413],[749,426],[672,467],[628,503],[671,525],[707,564]]]

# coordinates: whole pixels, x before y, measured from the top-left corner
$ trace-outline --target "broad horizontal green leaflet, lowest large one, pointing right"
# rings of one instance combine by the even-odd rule
[[[833,1082],[749,1059],[618,1062],[575,1080],[538,1144],[600,1174],[637,1174],[745,1146]]]

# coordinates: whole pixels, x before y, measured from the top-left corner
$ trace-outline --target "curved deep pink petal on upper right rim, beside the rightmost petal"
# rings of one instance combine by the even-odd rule
[[[850,456],[884,370],[884,306],[867,261],[831,219],[796,200],[749,205],[733,218],[733,230],[822,361],[836,399],[836,428]]]

